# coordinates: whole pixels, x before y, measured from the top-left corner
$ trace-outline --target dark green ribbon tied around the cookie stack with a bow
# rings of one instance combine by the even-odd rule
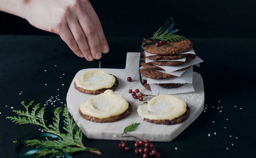
[[[164,33],[172,33],[172,34],[174,34],[175,32],[177,32],[178,31],[178,29],[177,30],[172,30],[173,29],[173,27],[174,27],[174,19],[172,18],[172,17],[169,17],[167,20],[166,20],[166,22],[164,23],[164,25],[163,25],[163,30],[164,30]],[[145,42],[145,40],[150,40],[150,41],[152,41],[152,42],[148,42],[148,43],[146,43]],[[142,52],[143,52],[143,48],[145,47],[145,46],[149,46],[149,45],[152,45],[152,44],[155,44],[156,42],[159,42],[160,40],[159,39],[157,39],[157,38],[144,38],[143,39],[143,42],[145,43],[145,44],[143,44],[142,46],[141,46],[141,49],[140,49],[140,59],[141,59],[141,55],[142,55]],[[140,68],[140,63],[141,63],[141,60],[139,61],[139,68]],[[139,71],[139,73],[140,73],[140,71]],[[143,80],[142,80],[142,77],[141,77],[141,73],[140,73],[140,83],[143,85]]]

